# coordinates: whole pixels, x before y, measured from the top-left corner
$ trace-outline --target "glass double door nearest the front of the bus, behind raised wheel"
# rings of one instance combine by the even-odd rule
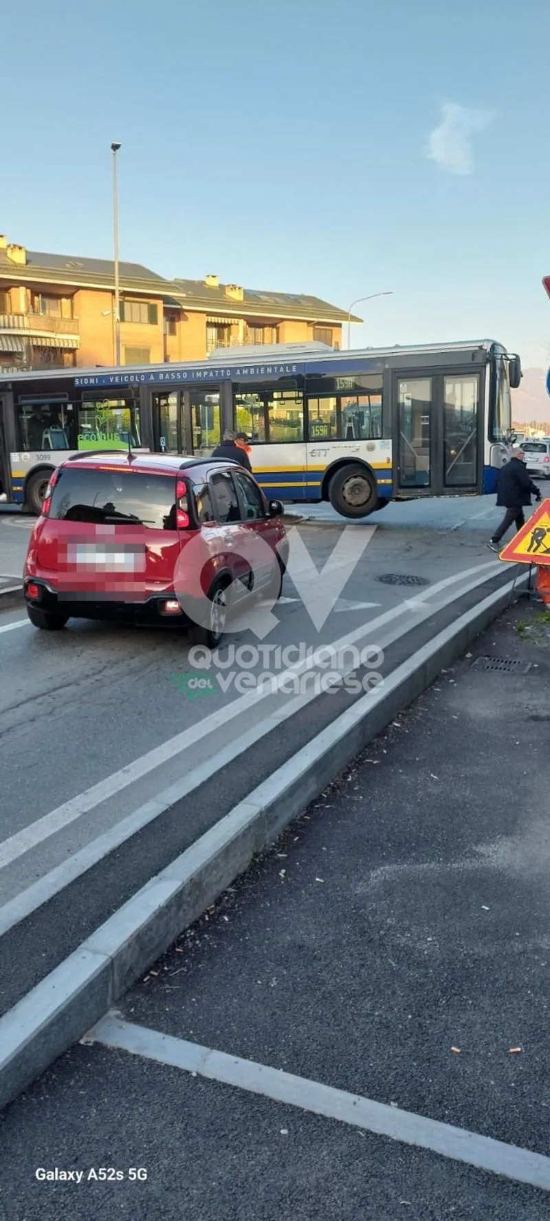
[[[394,487],[400,497],[474,495],[483,476],[478,371],[393,377]]]

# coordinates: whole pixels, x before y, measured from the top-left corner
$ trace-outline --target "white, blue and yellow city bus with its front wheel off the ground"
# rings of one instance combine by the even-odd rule
[[[222,349],[204,361],[1,375],[0,479],[39,513],[82,449],[210,454],[246,437],[268,497],[362,518],[391,499],[493,492],[521,361],[502,344]]]

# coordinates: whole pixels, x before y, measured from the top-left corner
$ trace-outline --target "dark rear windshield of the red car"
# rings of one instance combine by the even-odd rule
[[[134,523],[150,530],[176,530],[173,475],[133,470],[63,466],[51,496],[49,518],[59,521]]]

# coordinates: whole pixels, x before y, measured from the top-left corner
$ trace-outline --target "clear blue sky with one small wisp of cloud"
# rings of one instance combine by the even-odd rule
[[[1,33],[10,241],[109,258],[118,139],[121,258],[391,291],[354,346],[549,363],[546,0],[27,0]]]

